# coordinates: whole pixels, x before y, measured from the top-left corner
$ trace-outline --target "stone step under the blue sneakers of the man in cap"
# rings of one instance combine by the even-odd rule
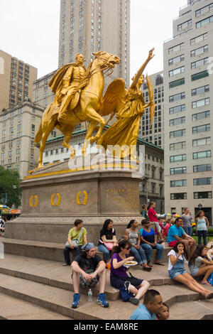
[[[190,291],[184,286],[175,286],[175,289],[174,286],[169,285],[156,286],[155,289],[160,292],[163,301],[169,306],[182,301],[200,300],[198,293]],[[87,296],[82,295],[79,308],[73,310],[70,308],[73,292],[4,274],[0,274],[0,293],[47,308],[49,311],[75,320],[128,320],[136,309],[136,306],[131,303],[128,303],[128,307],[126,307],[127,304],[121,299],[110,301],[109,308],[105,309],[99,306],[95,297],[94,301],[88,302]],[[212,303],[212,301],[204,302]]]

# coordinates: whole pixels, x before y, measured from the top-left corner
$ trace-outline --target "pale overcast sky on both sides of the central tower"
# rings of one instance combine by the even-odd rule
[[[153,47],[148,73],[163,70],[163,41],[173,36],[173,18],[185,4],[131,0],[131,75]],[[60,0],[0,0],[0,49],[38,68],[38,77],[48,74],[58,68],[59,19]]]

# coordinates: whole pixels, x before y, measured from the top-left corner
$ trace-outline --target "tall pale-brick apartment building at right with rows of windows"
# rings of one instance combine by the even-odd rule
[[[212,222],[212,0],[188,0],[164,43],[165,210]]]

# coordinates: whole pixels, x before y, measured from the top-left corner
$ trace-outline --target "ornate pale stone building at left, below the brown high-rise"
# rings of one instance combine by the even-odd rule
[[[33,139],[38,131],[43,108],[23,102],[0,114],[1,166],[16,169],[21,179],[38,166],[39,149]]]

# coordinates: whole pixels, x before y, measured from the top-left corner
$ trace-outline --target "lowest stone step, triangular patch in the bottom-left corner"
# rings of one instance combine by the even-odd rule
[[[33,305],[26,301],[0,293],[1,320],[72,320],[47,308]]]

